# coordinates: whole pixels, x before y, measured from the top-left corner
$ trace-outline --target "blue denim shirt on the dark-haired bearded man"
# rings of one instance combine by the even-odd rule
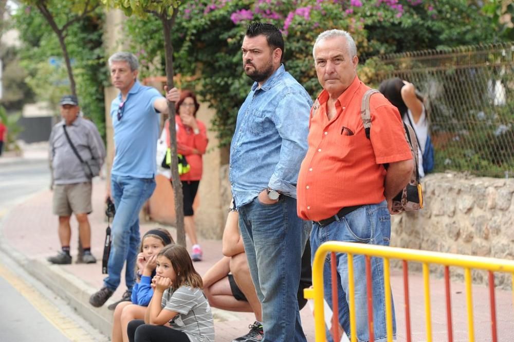
[[[230,146],[230,185],[236,208],[269,187],[296,198],[300,165],[307,152],[313,104],[302,85],[281,65],[258,88],[252,85],[237,114]]]

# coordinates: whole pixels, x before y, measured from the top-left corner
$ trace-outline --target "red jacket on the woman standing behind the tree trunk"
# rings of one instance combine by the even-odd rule
[[[185,155],[188,164],[191,166],[191,170],[188,173],[180,176],[180,181],[199,181],[203,169],[201,156],[205,154],[208,142],[205,124],[196,119],[200,133],[194,134],[193,129],[182,124],[180,116],[175,115],[175,123],[177,129],[177,152]],[[169,132],[169,128],[170,120],[166,120],[166,132]],[[166,143],[170,147],[169,134],[167,134]],[[199,154],[193,153],[194,150],[198,151]]]

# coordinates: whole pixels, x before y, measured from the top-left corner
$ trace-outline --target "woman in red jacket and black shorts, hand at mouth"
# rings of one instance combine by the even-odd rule
[[[202,251],[196,239],[196,230],[193,219],[193,201],[201,179],[202,160],[207,148],[207,130],[205,124],[196,119],[199,103],[191,91],[182,91],[180,99],[175,103],[175,122],[177,130],[177,152],[186,156],[191,169],[180,176],[182,192],[184,195],[184,226],[186,234],[193,245],[191,259],[201,261]],[[170,121],[166,121],[164,130],[169,132]],[[170,136],[167,135],[168,147]]]

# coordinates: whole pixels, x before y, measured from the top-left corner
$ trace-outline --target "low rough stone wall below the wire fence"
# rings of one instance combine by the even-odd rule
[[[422,184],[425,207],[393,216],[392,246],[514,259],[514,179],[437,173],[423,178]],[[431,271],[443,272],[442,267]],[[461,268],[451,267],[450,272],[463,278]],[[510,287],[510,279],[495,274],[499,286]],[[487,274],[473,271],[473,280],[486,283]]]

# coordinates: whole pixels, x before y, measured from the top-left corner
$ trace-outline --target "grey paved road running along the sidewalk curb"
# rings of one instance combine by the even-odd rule
[[[12,207],[48,188],[49,177],[48,162],[44,158],[1,160],[0,229],[4,215]],[[9,247],[5,243],[3,249],[0,251],[0,341],[106,340],[66,302],[9,258]]]

